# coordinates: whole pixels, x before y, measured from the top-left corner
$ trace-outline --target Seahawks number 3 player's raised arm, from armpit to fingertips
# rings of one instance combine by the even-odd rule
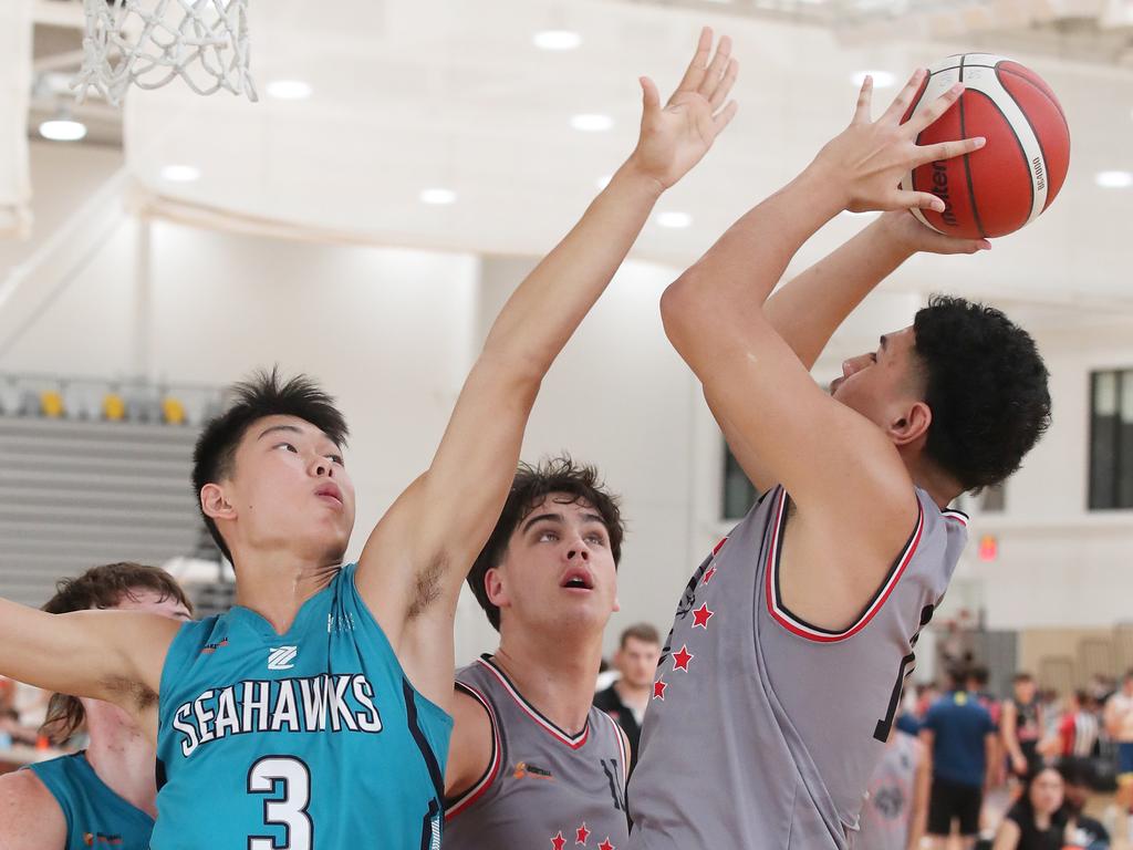
[[[457,399],[428,470],[374,529],[359,589],[409,678],[440,705],[452,694],[452,621],[460,587],[500,517],[539,384],[625,258],[661,194],[727,125],[731,42],[706,74],[712,32],[681,87],[662,107],[642,82],[637,148],[578,224],[508,299]],[[734,68],[732,68],[734,71]],[[718,99],[718,100],[717,100]],[[714,116],[714,113],[716,113]]]

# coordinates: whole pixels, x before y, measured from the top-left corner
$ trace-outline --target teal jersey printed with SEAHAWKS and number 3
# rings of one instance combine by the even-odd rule
[[[239,606],[178,631],[153,850],[440,847],[452,719],[409,683],[355,571],[284,635]]]

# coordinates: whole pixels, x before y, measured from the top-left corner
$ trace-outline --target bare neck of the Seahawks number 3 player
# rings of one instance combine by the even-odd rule
[[[303,603],[324,589],[341,566],[286,551],[239,552],[236,564],[236,604],[255,611],[279,635],[291,628]]]

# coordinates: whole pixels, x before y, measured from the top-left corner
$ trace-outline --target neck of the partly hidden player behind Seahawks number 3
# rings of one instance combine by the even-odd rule
[[[156,817],[153,745],[118,706],[84,699],[83,707],[91,733],[86,748],[91,767],[111,791]]]

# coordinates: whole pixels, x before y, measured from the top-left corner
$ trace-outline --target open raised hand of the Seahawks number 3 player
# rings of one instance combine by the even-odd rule
[[[732,40],[725,35],[713,56],[713,32],[701,29],[697,53],[664,108],[656,84],[641,77],[641,135],[630,161],[663,189],[701,160],[735,114],[736,103],[727,94],[740,66],[731,53]]]

